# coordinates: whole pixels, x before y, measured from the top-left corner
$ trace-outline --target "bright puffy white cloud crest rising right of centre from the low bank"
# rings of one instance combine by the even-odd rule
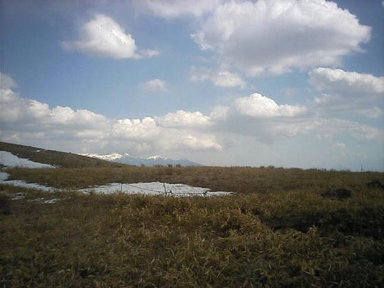
[[[259,93],[236,99],[236,108],[242,115],[252,117],[296,117],[307,112],[302,106],[278,105]]]

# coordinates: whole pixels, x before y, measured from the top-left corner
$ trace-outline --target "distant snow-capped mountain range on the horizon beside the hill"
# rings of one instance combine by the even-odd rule
[[[112,153],[108,155],[99,155],[99,154],[81,154],[82,156],[88,156],[93,158],[99,158],[103,160],[110,160],[113,162],[128,164],[128,165],[145,165],[145,166],[154,166],[154,165],[182,165],[182,166],[201,166],[199,163],[192,162],[187,159],[173,160],[170,158],[164,158],[160,155],[149,156],[147,158],[139,158],[131,156],[128,153],[119,154]]]

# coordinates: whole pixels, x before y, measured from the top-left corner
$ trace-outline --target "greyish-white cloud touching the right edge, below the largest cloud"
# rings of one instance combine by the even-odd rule
[[[320,67],[309,72],[309,83],[326,92],[314,98],[315,108],[350,111],[368,118],[383,115],[384,77]]]

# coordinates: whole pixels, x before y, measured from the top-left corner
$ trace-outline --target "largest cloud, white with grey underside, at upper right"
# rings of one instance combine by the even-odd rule
[[[331,1],[230,1],[217,5],[191,36],[247,75],[278,75],[338,64],[361,51],[370,27]]]

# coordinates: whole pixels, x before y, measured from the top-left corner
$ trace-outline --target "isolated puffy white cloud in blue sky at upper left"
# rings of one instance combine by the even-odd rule
[[[79,39],[62,41],[62,48],[115,59],[139,59],[158,55],[156,50],[137,49],[131,34],[126,34],[123,27],[104,14],[95,14],[80,29]]]

